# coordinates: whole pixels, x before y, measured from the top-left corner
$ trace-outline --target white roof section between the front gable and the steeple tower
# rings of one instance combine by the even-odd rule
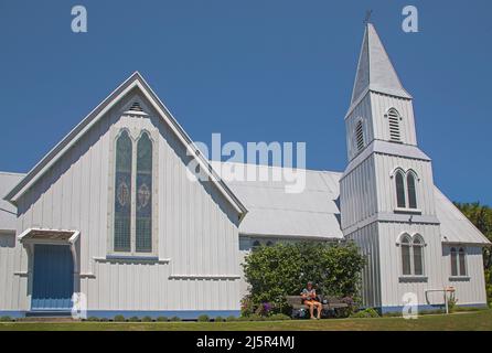
[[[213,162],[214,168],[217,168]],[[249,167],[255,175],[266,172],[269,181],[226,181],[232,191],[248,208],[239,224],[243,235],[278,236],[312,239],[343,239],[340,228],[340,195],[338,172],[302,170],[306,172],[306,189],[301,193],[287,193],[286,180],[272,181],[279,167],[223,163]],[[246,168],[244,169],[246,173]]]

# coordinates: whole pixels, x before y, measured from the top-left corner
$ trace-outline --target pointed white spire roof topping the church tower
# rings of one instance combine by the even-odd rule
[[[367,90],[411,98],[403,87],[372,23],[367,23],[365,29],[351,105],[362,98]]]

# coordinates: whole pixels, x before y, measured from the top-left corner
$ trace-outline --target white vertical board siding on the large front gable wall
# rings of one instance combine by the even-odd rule
[[[79,284],[89,310],[238,310],[237,213],[211,182],[188,179],[190,157],[156,113],[149,118],[121,116],[124,104],[107,113],[21,197],[18,232],[81,231]],[[169,263],[104,260],[111,244],[111,137],[122,127],[132,136],[141,129],[157,136],[157,254]],[[0,278],[12,288],[0,299],[0,308],[29,310],[32,276],[9,277],[26,270],[25,249],[17,243],[10,255],[0,252],[3,263],[13,263]],[[177,275],[181,277],[172,277]],[[214,279],[217,276],[225,278]]]

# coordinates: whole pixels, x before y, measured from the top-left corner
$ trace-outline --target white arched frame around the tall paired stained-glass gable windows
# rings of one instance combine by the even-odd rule
[[[145,125],[145,124],[143,124]],[[121,133],[128,133],[128,136],[131,139],[131,221],[130,221],[130,248],[128,249],[118,249],[115,248],[115,197],[116,197],[116,159],[117,159],[117,141],[118,138],[121,136]],[[151,141],[152,146],[152,172],[151,172],[151,180],[152,180],[152,190],[151,190],[151,248],[149,250],[140,250],[137,252],[137,153],[138,153],[138,142],[140,138],[147,133],[148,138]],[[113,150],[110,151],[110,173],[109,173],[109,189],[111,192],[109,192],[109,222],[108,222],[108,255],[109,256],[131,256],[131,257],[157,257],[158,256],[158,222],[157,222],[157,214],[158,214],[158,188],[157,188],[157,173],[159,170],[158,167],[158,146],[157,146],[157,135],[158,131],[153,127],[149,125],[149,128],[141,127],[141,128],[130,128],[130,127],[119,127],[115,126],[111,128],[111,136],[113,136]]]

